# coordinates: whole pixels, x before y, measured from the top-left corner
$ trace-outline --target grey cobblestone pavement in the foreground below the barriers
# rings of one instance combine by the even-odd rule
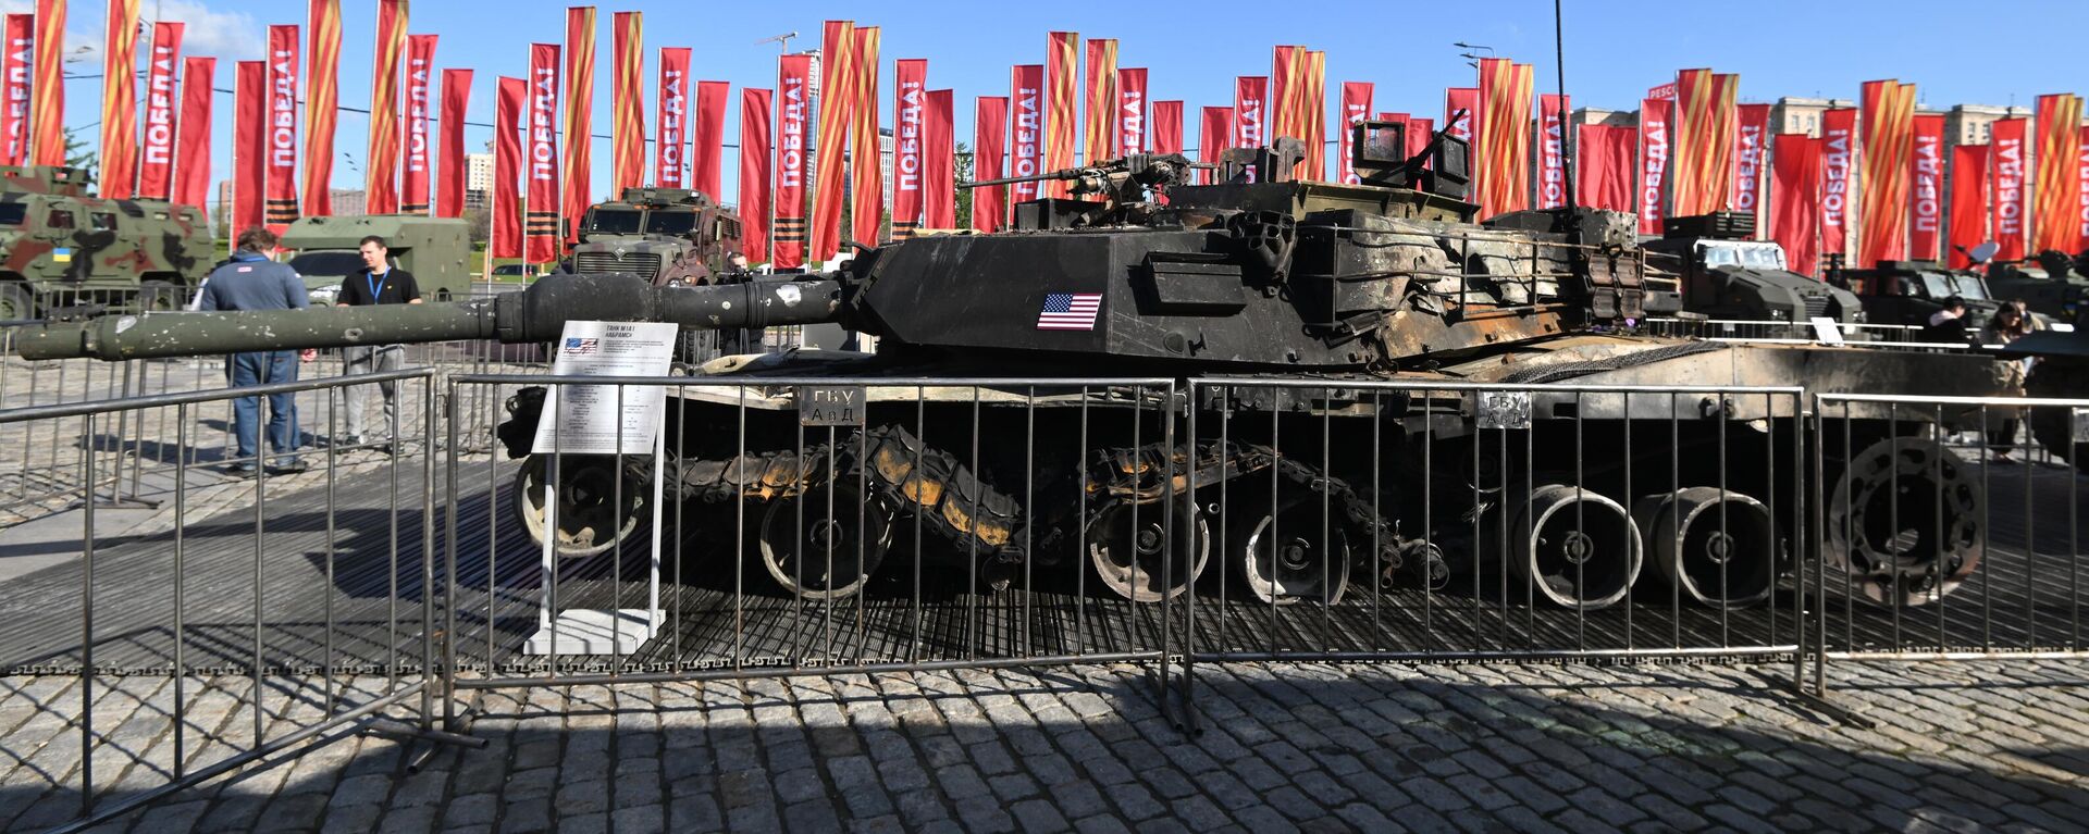
[[[1838,704],[1872,727],[1765,673],[1782,669],[1199,667],[1195,738],[1139,667],[512,690],[478,702],[489,748],[422,773],[405,744],[351,736],[102,830],[2089,828],[2089,663],[1838,665]],[[165,763],[169,736],[167,681],[119,684],[96,706],[117,746],[96,782],[117,796],[159,778],[125,750]],[[244,684],[213,686],[192,765],[253,732]],[[0,821],[63,821],[77,681],[6,688]]]

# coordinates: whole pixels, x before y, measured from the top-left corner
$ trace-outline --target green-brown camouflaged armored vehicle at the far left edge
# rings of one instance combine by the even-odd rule
[[[77,167],[0,165],[0,320],[75,303],[175,309],[209,272],[201,209],[92,196]]]

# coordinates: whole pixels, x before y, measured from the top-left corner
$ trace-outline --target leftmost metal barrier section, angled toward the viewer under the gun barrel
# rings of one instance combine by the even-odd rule
[[[77,744],[21,746],[40,765],[33,771],[77,790],[79,817],[69,828],[278,752],[295,755],[292,746],[320,736],[380,729],[443,738],[432,732],[439,665],[428,594],[435,374],[401,370],[357,383],[418,389],[422,414],[412,424],[420,437],[397,460],[355,466],[328,447],[307,456],[318,462],[311,470],[261,468],[253,481],[203,487],[201,462],[169,456],[169,531],[113,537],[96,527],[98,502],[81,487],[77,556],[8,581],[0,667],[8,675],[73,677],[67,698],[46,709],[77,704],[77,713],[61,713],[63,729],[52,727],[77,732]],[[0,426],[81,420],[94,437],[111,420],[150,422],[169,412],[182,447],[198,410],[251,399],[265,424],[292,397],[330,399],[347,385],[320,378],[40,406],[0,412]],[[98,464],[100,456],[84,458],[84,485],[100,483]],[[389,483],[359,479],[359,487],[345,489],[343,474],[355,472],[384,472]],[[251,500],[251,510],[238,508],[240,500]],[[209,512],[198,504],[230,512],[198,523],[192,514]],[[56,546],[63,550],[63,539]],[[418,727],[389,721],[395,706],[412,709]],[[44,761],[46,750],[71,761]]]

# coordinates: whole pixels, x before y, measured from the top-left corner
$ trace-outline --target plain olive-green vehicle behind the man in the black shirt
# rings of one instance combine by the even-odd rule
[[[372,234],[428,301],[462,299],[470,288],[472,234],[460,217],[303,217],[282,232],[282,249],[292,251],[290,268],[305,276],[311,303],[334,303],[341,280],[363,268],[359,247]]]

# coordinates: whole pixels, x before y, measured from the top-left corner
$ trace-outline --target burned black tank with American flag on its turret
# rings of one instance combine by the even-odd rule
[[[556,477],[560,552],[600,552],[631,535],[658,481],[666,502],[731,508],[758,539],[754,575],[806,600],[861,594],[896,531],[915,529],[917,571],[988,585],[1049,571],[1128,600],[1168,600],[1199,577],[1230,577],[1228,594],[1272,606],[1335,602],[1356,587],[1443,589],[1452,575],[1492,571],[1531,585],[1540,604],[1581,610],[1623,600],[1642,573],[1667,577],[1696,604],[1746,606],[1774,592],[1784,554],[1803,541],[1763,541],[1765,525],[1728,520],[1799,516],[1805,489],[1728,481],[1717,466],[1797,460],[1797,397],[1648,395],[1617,406],[1546,383],[2001,393],[1993,362],[1978,355],[1636,334],[1638,320],[1659,311],[1648,299],[1673,301],[1677,286],[1648,270],[1629,215],[1475,222],[1460,140],[1437,134],[1406,157],[1402,125],[1354,130],[1362,184],[1295,180],[1299,144],[1289,138],[1228,150],[1207,184],[1193,184],[1203,165],[1178,155],[1132,155],[1049,173],[1072,196],[1015,205],[1007,232],[917,236],[798,280],[654,286],[639,276],[549,276],[453,305],[46,324],[17,345],[25,357],[123,360],[370,341],[543,343],[568,320],[838,322],[877,337],[877,351],[721,357],[698,374],[752,389],[677,393],[666,470],[654,472],[650,456],[560,456]],[[1191,387],[1207,397],[1197,401],[1170,387],[1155,403],[1153,391],[1080,383],[1120,376],[1308,387]],[[760,387],[765,378],[779,383]],[[890,385],[865,391],[861,426],[806,447],[794,401],[806,378]],[[940,378],[1030,383],[959,399],[917,395]],[[1053,378],[1067,385],[1036,385]],[[1383,380],[1425,389],[1358,389]],[[1527,393],[1504,395],[1515,387]],[[1978,485],[1957,466],[1895,462],[1945,460],[1939,437],[1972,420],[1970,410],[1855,408],[1853,428],[1834,443],[1847,443],[1838,460],[1861,464],[1826,472],[1830,566],[1863,598],[1930,602],[1980,560]],[[501,437],[522,458],[541,397],[524,391],[510,412]],[[1634,428],[1642,456],[1629,451]],[[1625,451],[1581,454],[1615,449],[1611,435]],[[1084,460],[1026,460],[1051,447],[1082,449]],[[1329,454],[1293,451],[1301,447]],[[1648,447],[1675,451],[1661,472]],[[1782,472],[1813,477],[1801,468]],[[518,474],[529,523],[549,500],[545,477],[539,462]],[[1454,483],[1427,489],[1431,479]],[[1920,491],[1886,489],[1924,479]],[[1648,493],[1650,483],[1677,489]],[[854,518],[840,523],[836,506]],[[1909,543],[1888,523],[1932,514],[1949,535]],[[1306,527],[1327,535],[1276,537]],[[850,558],[836,562],[836,552]],[[1703,581],[1707,564],[1719,583]],[[1736,587],[1732,577],[1748,579]]]

